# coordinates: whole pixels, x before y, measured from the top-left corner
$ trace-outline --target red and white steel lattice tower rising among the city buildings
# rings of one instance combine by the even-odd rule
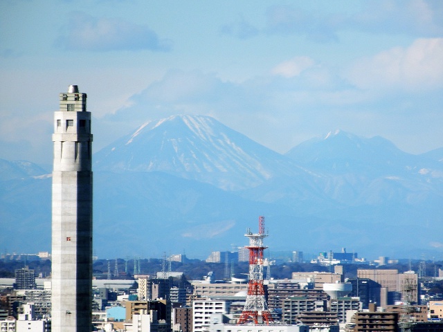
[[[263,246],[263,239],[268,235],[264,234],[264,216],[258,220],[258,234],[250,230],[244,234],[249,238],[249,246],[245,246],[249,250],[249,283],[246,304],[237,324],[269,324],[272,321],[263,288],[263,250],[268,248]]]

